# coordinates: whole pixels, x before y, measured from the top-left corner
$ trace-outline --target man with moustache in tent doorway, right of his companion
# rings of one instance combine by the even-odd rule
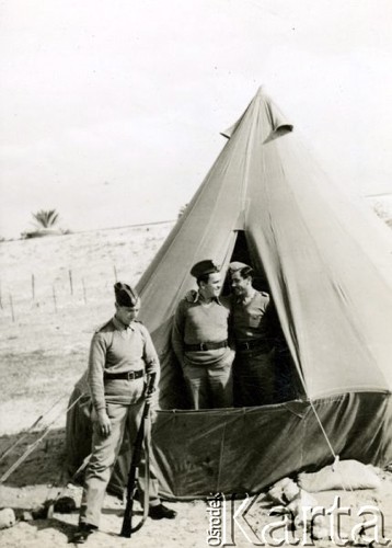
[[[275,367],[268,293],[253,285],[253,269],[241,262],[229,265],[231,276],[231,327],[235,341],[234,390],[237,404],[274,402]]]

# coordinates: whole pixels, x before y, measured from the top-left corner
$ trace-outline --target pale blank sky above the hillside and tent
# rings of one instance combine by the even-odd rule
[[[390,0],[0,0],[0,237],[175,219],[260,85],[357,195],[392,193]]]

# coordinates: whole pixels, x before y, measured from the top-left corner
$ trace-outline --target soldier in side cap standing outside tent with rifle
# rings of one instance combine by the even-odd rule
[[[145,393],[146,375],[155,373],[158,386],[158,355],[149,332],[137,320],[140,299],[127,284],[117,283],[114,288],[115,316],[95,332],[90,349],[89,385],[95,416],[79,527],[72,539],[76,544],[84,543],[99,527],[106,487],[124,435],[128,432],[132,443],[143,402],[151,398]],[[150,482],[150,517],[173,518],[175,514],[161,504],[158,480],[153,478]]]

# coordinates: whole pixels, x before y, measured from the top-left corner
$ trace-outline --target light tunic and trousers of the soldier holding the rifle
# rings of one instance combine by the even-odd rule
[[[138,379],[104,380],[104,374],[128,373],[159,374],[159,359],[150,334],[138,321],[126,328],[112,318],[99,329],[91,342],[89,358],[89,385],[93,402],[93,414],[103,409],[111,420],[112,431],[102,436],[97,422],[93,423],[92,455],[87,468],[82,494],[80,523],[99,525],[101,509],[107,483],[124,435],[129,435],[132,445],[140,425],[146,377]],[[158,378],[157,378],[158,383]],[[143,461],[140,472],[143,476]],[[158,480],[152,472],[150,504],[159,503]],[[142,489],[143,486],[140,484]]]

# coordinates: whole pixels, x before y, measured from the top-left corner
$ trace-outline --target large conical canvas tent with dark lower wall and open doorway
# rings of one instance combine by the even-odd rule
[[[258,90],[138,283],[161,359],[153,456],[162,494],[255,493],[341,458],[391,460],[392,274],[388,228],[311,159]],[[314,137],[313,137],[314,138]],[[296,377],[287,401],[186,409],[170,343],[173,313],[203,259],[252,264],[274,299]],[[277,370],[277,376],[279,370]],[[84,390],[83,379],[72,399]],[[70,461],[89,453],[83,408],[68,415]],[[129,452],[112,487],[124,484]]]

